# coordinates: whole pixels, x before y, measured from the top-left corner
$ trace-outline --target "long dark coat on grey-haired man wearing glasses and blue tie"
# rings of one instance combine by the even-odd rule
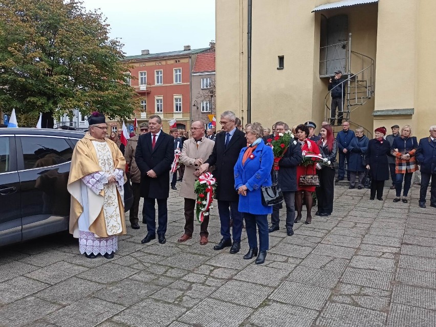
[[[212,154],[205,161],[209,166],[215,166],[212,171],[216,178],[216,199],[222,201],[238,201],[239,195],[235,190],[234,166],[239,158],[239,152],[247,146],[244,132],[237,129],[233,134],[230,143],[225,148],[226,132],[216,134],[215,145]]]

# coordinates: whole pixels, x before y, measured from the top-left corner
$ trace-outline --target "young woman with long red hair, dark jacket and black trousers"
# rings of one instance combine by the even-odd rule
[[[315,215],[321,217],[330,216],[333,212],[333,191],[335,189],[335,167],[338,153],[338,143],[333,136],[333,129],[330,125],[323,125],[320,130],[321,139],[318,140],[319,151],[327,165],[316,165],[319,176],[319,186],[316,188],[316,198],[318,199],[318,211]]]

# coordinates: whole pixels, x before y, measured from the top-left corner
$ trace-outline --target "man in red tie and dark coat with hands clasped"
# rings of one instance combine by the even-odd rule
[[[164,133],[162,120],[158,115],[148,119],[149,133],[138,139],[135,159],[141,171],[141,197],[144,198],[142,215],[147,223],[147,235],[141,243],[156,238],[155,200],[158,202],[158,239],[166,242],[165,232],[168,221],[167,200],[169,197],[169,170],[174,160],[174,138]]]

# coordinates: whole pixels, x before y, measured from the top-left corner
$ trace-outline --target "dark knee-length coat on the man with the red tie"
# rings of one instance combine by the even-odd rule
[[[151,133],[140,135],[135,160],[141,171],[141,197],[168,199],[169,170],[174,160],[174,138],[161,132],[154,150],[151,150]],[[156,172],[157,178],[147,176],[150,169]]]

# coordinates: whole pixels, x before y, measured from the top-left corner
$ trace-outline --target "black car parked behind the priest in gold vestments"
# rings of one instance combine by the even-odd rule
[[[68,230],[71,157],[84,135],[60,129],[0,128],[0,246]],[[127,181],[125,211],[132,203]]]

